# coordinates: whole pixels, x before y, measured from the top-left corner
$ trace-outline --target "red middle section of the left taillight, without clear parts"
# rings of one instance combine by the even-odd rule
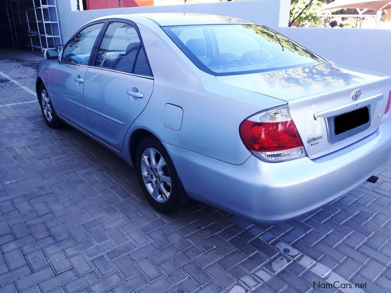
[[[245,120],[240,125],[240,136],[248,150],[279,151],[303,146],[293,121]]]

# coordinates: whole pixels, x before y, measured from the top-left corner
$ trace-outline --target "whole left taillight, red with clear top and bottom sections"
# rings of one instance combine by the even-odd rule
[[[240,124],[239,134],[244,146],[262,160],[279,162],[305,156],[287,106],[247,118]]]

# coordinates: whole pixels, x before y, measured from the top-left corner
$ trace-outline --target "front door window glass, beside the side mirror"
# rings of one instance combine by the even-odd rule
[[[63,50],[62,61],[87,65],[95,40],[104,23],[96,23],[81,30]]]

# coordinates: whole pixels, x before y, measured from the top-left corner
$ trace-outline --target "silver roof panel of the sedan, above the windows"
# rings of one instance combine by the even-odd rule
[[[121,18],[126,20],[136,20],[138,18],[147,18],[160,26],[174,25],[196,25],[196,24],[255,24],[253,21],[246,21],[238,18],[219,16],[213,14],[197,13],[139,13],[122,14],[101,17],[99,19]]]

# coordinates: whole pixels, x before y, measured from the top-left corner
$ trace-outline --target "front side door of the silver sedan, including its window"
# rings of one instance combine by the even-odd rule
[[[70,123],[91,131],[84,105],[84,80],[90,56],[105,22],[81,29],[64,47],[61,60],[49,69],[49,90],[57,113]]]

